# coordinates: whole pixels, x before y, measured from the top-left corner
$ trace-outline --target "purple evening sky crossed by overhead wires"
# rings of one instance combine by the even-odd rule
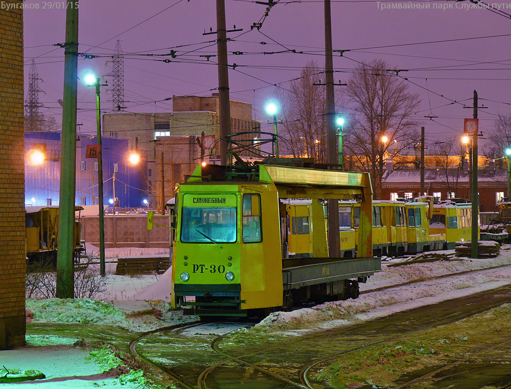
[[[26,0],[25,3],[36,2]],[[236,25],[237,29],[243,29],[242,32],[228,34],[236,41],[229,42],[227,49],[229,53],[245,53],[229,55],[229,64],[240,65],[234,71],[229,70],[231,99],[252,103],[254,118],[267,120],[264,103],[274,94],[273,84],[288,88],[289,82],[286,81],[298,77],[301,67],[311,59],[324,66],[323,2],[283,0],[271,9],[260,31],[250,31],[250,26],[263,17],[264,5],[248,0],[226,0],[225,3],[227,28],[232,29]],[[390,9],[400,4],[429,5],[430,8]],[[488,4],[502,7],[509,3]],[[382,10],[382,5],[389,9]],[[471,5],[468,1],[378,3],[332,0],[334,50],[351,50],[344,53],[344,57],[334,56],[334,68],[340,71],[334,74],[334,79],[336,82],[345,81],[357,61],[375,58],[386,60],[392,67],[409,70],[400,75],[408,78],[410,90],[421,96],[422,110],[416,113],[416,119],[426,127],[428,144],[459,138],[463,118],[472,117],[472,110],[463,109],[462,104],[451,103],[457,101],[472,106],[473,90],[476,89],[479,105],[489,106],[489,109],[479,110],[479,128],[483,132],[491,131],[496,115],[511,111],[511,107],[507,106],[511,103],[511,53],[508,53],[511,19],[487,9],[467,10]],[[452,8],[433,8],[449,6]],[[25,90],[28,89],[30,63],[35,59],[39,77],[43,80],[39,84],[44,90],[44,94],[39,95],[44,105],[41,112],[58,116],[60,121],[61,109],[57,99],[62,98],[64,50],[53,47],[53,44],[64,42],[65,11],[42,9],[42,2],[39,2],[39,7],[24,12]],[[511,9],[503,11],[511,14]],[[202,35],[210,27],[216,30],[215,1],[82,1],[79,17],[79,52],[103,56],[80,59],[81,78],[88,70],[98,75],[111,71],[107,56],[113,52],[117,39],[121,40],[125,53],[165,54],[169,49],[162,49],[166,48],[177,51],[175,59],[164,57],[179,61],[172,63],[155,61],[161,59],[158,57],[125,57],[126,111],[169,111],[172,109],[171,101],[159,100],[172,95],[208,96],[212,93],[210,89],[218,87],[217,67],[213,63],[216,57],[210,62],[200,57],[216,54],[214,43],[204,43],[214,40],[216,35]],[[467,39],[503,34],[508,36]],[[452,39],[466,40],[410,44]],[[284,47],[305,53],[262,54],[286,50]],[[111,84],[111,77],[106,77],[106,80]],[[101,98],[102,110],[111,110],[112,103],[107,101],[111,95],[105,89],[102,89]],[[94,91],[80,82],[78,102],[78,122],[83,123],[79,131],[95,133]],[[344,109],[338,105],[337,111]],[[424,118],[431,114],[438,118],[434,121]],[[271,128],[262,123],[262,131],[271,131]]]

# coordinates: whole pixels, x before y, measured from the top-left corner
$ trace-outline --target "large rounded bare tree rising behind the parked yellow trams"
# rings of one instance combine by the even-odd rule
[[[411,117],[419,108],[419,95],[410,93],[397,73],[376,59],[357,66],[344,88],[346,106],[354,113],[343,146],[370,172],[375,198],[381,195],[384,155],[397,154],[419,139]]]

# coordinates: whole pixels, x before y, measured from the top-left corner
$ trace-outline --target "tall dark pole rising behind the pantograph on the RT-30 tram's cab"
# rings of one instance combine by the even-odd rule
[[[220,165],[227,165],[227,142],[230,135],[229,75],[227,67],[227,30],[225,28],[225,0],[217,0],[218,93],[220,118]]]

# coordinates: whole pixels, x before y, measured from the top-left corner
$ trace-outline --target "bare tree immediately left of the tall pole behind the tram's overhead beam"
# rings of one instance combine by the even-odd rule
[[[282,102],[283,122],[280,133],[286,138],[283,150],[295,157],[312,157],[315,162],[327,161],[327,130],[325,88],[319,83],[324,70],[315,61],[309,61],[300,77],[289,89],[278,89]]]

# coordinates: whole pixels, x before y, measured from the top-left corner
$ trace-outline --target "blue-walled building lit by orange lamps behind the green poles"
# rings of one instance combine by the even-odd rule
[[[25,204],[58,205],[61,161],[60,131],[25,132]],[[129,140],[102,136],[103,148],[103,203],[115,197],[120,208],[144,207],[147,198],[147,181],[144,172],[147,162],[143,159],[133,165],[129,162]],[[85,158],[87,145],[96,145],[96,136],[78,136],[76,142],[76,197],[77,205],[98,204],[98,160]],[[39,151],[42,162],[35,163],[32,156]]]

